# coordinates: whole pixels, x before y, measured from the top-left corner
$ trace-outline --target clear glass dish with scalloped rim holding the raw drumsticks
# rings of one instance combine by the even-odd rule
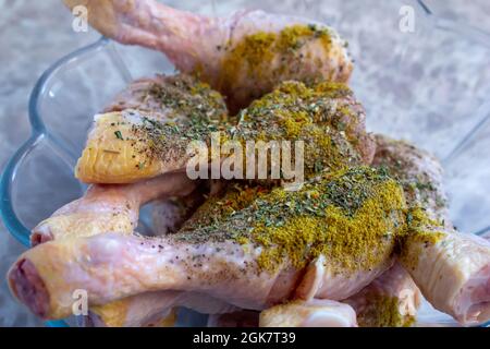
[[[415,15],[413,32],[400,27],[406,4]],[[356,1],[285,0],[281,9],[272,0],[187,1],[180,7],[215,15],[264,9],[334,26],[356,60],[351,85],[367,109],[369,130],[438,155],[455,225],[465,232],[490,230],[489,35],[438,17],[415,0],[367,0],[360,7]],[[12,156],[0,183],[1,216],[19,241],[27,246],[37,222],[82,195],[85,188],[74,179],[73,166],[93,116],[132,80],[172,72],[159,52],[100,38],[41,75],[29,100],[32,136]],[[142,224],[150,229],[145,219]],[[454,322],[427,305],[419,324]]]

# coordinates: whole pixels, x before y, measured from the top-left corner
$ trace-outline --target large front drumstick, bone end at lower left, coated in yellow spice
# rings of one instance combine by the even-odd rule
[[[249,189],[253,197],[258,193],[252,200],[244,191],[232,185],[221,204],[205,204],[174,234],[42,243],[12,266],[12,292],[45,318],[69,315],[81,288],[89,306],[183,290],[264,310],[287,300],[298,284],[311,298],[344,299],[391,266],[405,201],[382,170],[340,170],[298,192]],[[303,280],[309,261],[315,277]]]

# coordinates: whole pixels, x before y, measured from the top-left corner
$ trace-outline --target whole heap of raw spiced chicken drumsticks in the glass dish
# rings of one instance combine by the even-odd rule
[[[65,2],[88,5],[97,29],[161,50],[225,98],[186,75],[134,83],[97,116],[77,165],[81,180],[182,176],[188,157],[175,141],[148,152],[155,140],[146,136],[177,137],[182,125],[193,129],[196,101],[209,107],[198,108],[206,127],[200,137],[208,139],[212,125],[240,142],[305,140],[307,176],[297,192],[267,181],[229,182],[177,232],[151,238],[132,233],[137,207],[169,189],[148,198],[130,195],[134,205],[122,212],[125,220],[88,216],[83,226],[71,224],[81,206],[89,206],[89,192],[40,225],[33,238],[40,244],[9,272],[13,293],[34,313],[69,315],[73,291],[83,288],[93,325],[169,323],[174,306],[257,311],[262,326],[407,325],[412,313],[404,310],[416,310],[419,288],[463,325],[489,320],[490,243],[451,226],[436,159],[381,135],[375,146],[360,104],[335,83],[348,80],[352,62],[331,28],[264,12],[209,19],[151,0]],[[169,91],[189,108],[173,104]],[[235,120],[224,101],[232,112],[246,108]],[[160,157],[148,158],[154,153]],[[124,203],[112,204],[98,188],[93,192],[102,207]],[[175,216],[162,227],[169,219]],[[406,289],[408,297],[401,292]],[[382,322],[379,298],[393,301],[396,321]]]

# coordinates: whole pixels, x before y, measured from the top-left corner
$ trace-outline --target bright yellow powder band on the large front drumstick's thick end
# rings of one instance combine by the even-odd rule
[[[354,216],[329,205],[323,216],[303,215],[282,227],[259,225],[254,240],[265,246],[259,265],[273,269],[286,255],[292,264],[304,267],[308,261],[324,255],[342,270],[368,269],[393,253],[395,238],[403,233],[404,196],[396,182],[375,189]]]

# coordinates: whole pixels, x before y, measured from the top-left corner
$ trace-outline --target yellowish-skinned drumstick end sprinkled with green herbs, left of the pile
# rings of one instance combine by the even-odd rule
[[[95,117],[76,164],[75,177],[86,183],[131,183],[184,170],[187,145],[209,142],[228,116],[220,94],[186,75],[136,81],[106,110]]]

